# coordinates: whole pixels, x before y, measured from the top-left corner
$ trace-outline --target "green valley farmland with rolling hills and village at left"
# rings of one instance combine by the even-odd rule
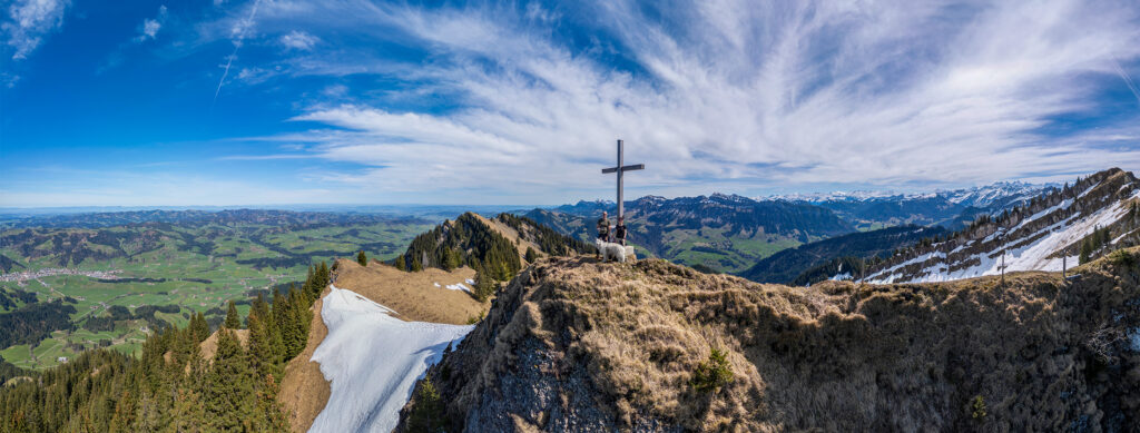
[[[0,357],[41,369],[100,345],[133,353],[156,327],[186,326],[196,312],[217,325],[230,300],[245,316],[251,296],[303,280],[310,264],[361,250],[392,259],[433,226],[284,211],[128,214],[123,224],[91,214],[0,226],[0,319],[31,324],[0,329],[10,343]]]

